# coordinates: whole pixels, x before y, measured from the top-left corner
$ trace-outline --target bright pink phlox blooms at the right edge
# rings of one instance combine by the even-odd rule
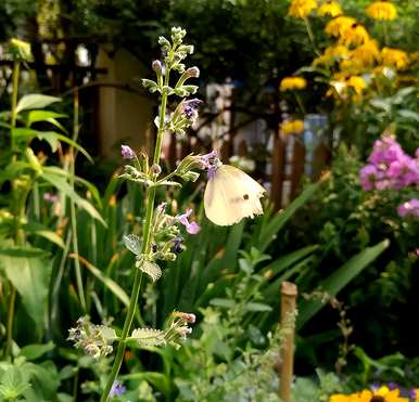
[[[419,185],[419,148],[416,150],[416,158],[412,158],[404,153],[397,141],[385,137],[374,142],[368,161],[359,171],[360,184],[366,191]],[[419,199],[412,198],[399,205],[397,213],[402,218],[419,218]]]

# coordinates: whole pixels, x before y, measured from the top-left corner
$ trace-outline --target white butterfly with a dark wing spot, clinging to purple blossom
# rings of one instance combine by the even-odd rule
[[[263,213],[259,198],[264,193],[265,189],[240,169],[220,165],[205,187],[205,215],[220,226],[253,218]]]

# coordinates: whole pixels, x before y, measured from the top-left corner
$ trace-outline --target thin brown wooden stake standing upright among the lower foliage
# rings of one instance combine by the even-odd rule
[[[294,321],[290,317],[295,313],[296,285],[290,282],[281,283],[281,328],[287,330],[284,343],[281,346],[281,369],[279,372],[279,397],[283,402],[291,401],[291,384],[294,371]]]

